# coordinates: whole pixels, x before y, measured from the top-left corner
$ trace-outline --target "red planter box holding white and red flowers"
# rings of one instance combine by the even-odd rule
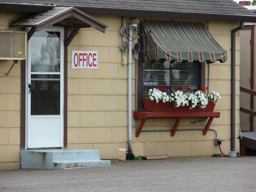
[[[150,99],[143,99],[143,105],[146,112],[213,112],[215,103],[208,100],[206,108],[196,106],[189,109],[189,106],[175,107],[171,102],[153,102]]]

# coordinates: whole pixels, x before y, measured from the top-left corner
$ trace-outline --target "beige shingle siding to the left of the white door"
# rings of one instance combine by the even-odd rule
[[[19,13],[0,12],[0,30]],[[4,19],[3,19],[4,18]],[[13,60],[0,60],[0,73],[6,73]],[[20,168],[20,61],[8,76],[0,76],[0,170]]]

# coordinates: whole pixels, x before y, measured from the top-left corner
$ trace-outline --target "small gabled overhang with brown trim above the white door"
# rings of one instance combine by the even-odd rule
[[[43,13],[15,21],[11,26],[34,27],[38,32],[57,23],[66,28],[95,28],[103,33],[108,28],[106,24],[75,7],[53,7]]]

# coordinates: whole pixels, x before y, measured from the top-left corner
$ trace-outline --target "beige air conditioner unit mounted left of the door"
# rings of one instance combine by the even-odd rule
[[[27,58],[26,31],[0,31],[0,60]]]

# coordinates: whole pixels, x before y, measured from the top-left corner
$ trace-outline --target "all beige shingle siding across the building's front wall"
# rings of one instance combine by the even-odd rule
[[[226,1],[225,1],[226,2]],[[3,15],[2,15],[3,14]],[[1,16],[2,15],[2,16]],[[9,23],[17,19],[17,13],[0,12],[0,29],[10,30]],[[68,148],[100,149],[101,159],[117,159],[118,148],[127,145],[127,65],[121,65],[122,52],[119,43],[122,36],[119,16],[95,16],[109,26],[106,33],[95,29],[80,29],[68,46]],[[156,18],[155,18],[156,19]],[[198,20],[181,20],[194,21]],[[201,21],[205,22],[205,21]],[[210,64],[210,91],[220,92],[220,118],[215,118],[211,128],[225,141],[221,149],[225,154],[230,150],[230,31],[238,22],[210,21],[209,30],[228,52],[225,63]],[[239,33],[236,33],[236,55],[239,55]],[[90,38],[92,37],[92,38]],[[72,69],[71,51],[98,51],[98,69]],[[1,73],[8,71],[12,61],[0,60]],[[132,78],[134,78],[134,60]],[[206,74],[208,69],[206,67]],[[206,75],[207,78],[207,75]],[[12,88],[10,87],[12,84]],[[206,81],[207,84],[207,81]],[[221,84],[221,86],[220,86]],[[16,64],[8,77],[0,77],[0,169],[19,168],[20,144],[20,64]],[[8,85],[8,86],[7,86]],[[132,81],[132,110],[134,110],[134,80]],[[236,137],[238,137],[239,117],[239,56],[236,58]],[[9,101],[8,101],[9,100]],[[178,129],[204,128],[206,122],[190,124],[199,118],[182,118]],[[202,118],[201,118],[202,119]],[[15,121],[14,121],[15,120]],[[171,129],[174,118],[149,118],[143,127],[146,129]],[[138,121],[139,124],[139,121]],[[213,145],[215,133],[208,131],[142,132],[135,137],[132,119],[132,146],[136,155],[148,158],[174,156],[208,156],[220,153]],[[200,150],[198,150],[200,149]],[[239,143],[236,140],[236,149]]]

